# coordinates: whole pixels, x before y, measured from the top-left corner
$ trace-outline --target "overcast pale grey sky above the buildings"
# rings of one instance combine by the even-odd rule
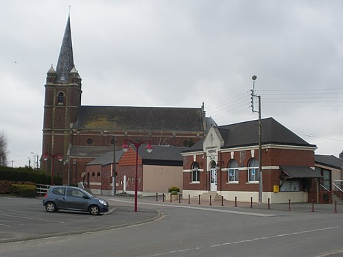
[[[69,5],[82,105],[204,102],[218,125],[250,121],[257,75],[262,118],[316,154],[343,150],[343,1],[1,0],[0,132],[14,167],[41,154],[45,78]]]

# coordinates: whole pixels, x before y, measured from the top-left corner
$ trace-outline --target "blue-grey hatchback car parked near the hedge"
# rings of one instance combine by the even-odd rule
[[[108,202],[74,186],[51,186],[43,199],[47,212],[78,210],[98,215],[108,212]]]

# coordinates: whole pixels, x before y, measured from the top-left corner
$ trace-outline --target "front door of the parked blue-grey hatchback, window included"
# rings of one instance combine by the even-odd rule
[[[67,188],[67,195],[64,199],[64,204],[69,210],[87,211],[88,201],[89,197],[87,197],[78,188]]]

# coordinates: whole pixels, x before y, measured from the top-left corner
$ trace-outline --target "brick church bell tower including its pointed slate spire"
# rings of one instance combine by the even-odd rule
[[[63,184],[67,184],[67,149],[81,105],[81,94],[81,77],[73,61],[69,15],[56,71],[52,65],[47,71],[42,146],[42,156],[47,156],[47,160],[42,158],[40,166],[48,174],[54,171],[54,175],[62,176]],[[61,162],[59,154],[62,155]],[[53,163],[54,167],[51,166]]]

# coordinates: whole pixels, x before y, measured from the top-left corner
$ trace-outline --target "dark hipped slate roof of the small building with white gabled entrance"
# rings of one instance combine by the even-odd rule
[[[305,147],[316,147],[310,145],[303,138],[297,136],[287,127],[275,121],[273,118],[262,119],[262,144],[296,145]],[[246,145],[258,145],[259,143],[259,121],[246,121],[218,127],[224,148],[239,147]]]

